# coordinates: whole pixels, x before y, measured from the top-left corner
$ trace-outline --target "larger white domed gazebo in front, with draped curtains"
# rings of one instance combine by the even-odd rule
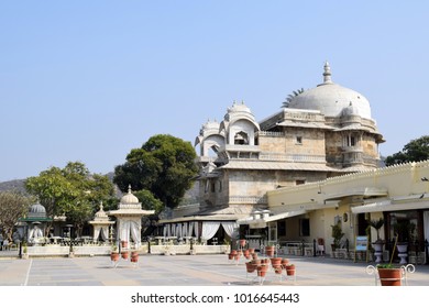
[[[139,249],[142,242],[142,217],[153,213],[155,213],[154,210],[142,209],[142,204],[131,193],[131,186],[129,186],[128,194],[121,198],[118,210],[108,212],[109,216],[117,218],[117,241],[125,242],[125,248],[130,248],[130,240],[132,240]]]

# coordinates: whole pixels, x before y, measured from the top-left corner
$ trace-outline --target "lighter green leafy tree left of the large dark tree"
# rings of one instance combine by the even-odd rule
[[[100,201],[109,202],[114,193],[107,176],[91,175],[80,162],[69,162],[63,169],[51,167],[38,176],[29,177],[25,188],[37,196],[48,217],[65,215],[78,234],[98,210]]]

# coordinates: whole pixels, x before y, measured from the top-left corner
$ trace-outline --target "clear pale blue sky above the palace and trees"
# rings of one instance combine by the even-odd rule
[[[428,134],[427,1],[0,1],[0,180],[80,161],[108,173],[150,136],[194,144],[233,100],[257,120],[332,80],[398,152]]]

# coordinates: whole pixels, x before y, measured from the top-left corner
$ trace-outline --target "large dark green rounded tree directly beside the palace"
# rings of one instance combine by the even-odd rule
[[[146,189],[164,207],[179,205],[197,175],[196,153],[189,142],[168,135],[154,135],[141,148],[131,150],[127,162],[114,169],[113,182],[121,191],[129,185]]]

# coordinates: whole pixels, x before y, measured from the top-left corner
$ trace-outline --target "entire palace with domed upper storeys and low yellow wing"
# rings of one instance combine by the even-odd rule
[[[322,77],[262,121],[234,102],[223,121],[204,124],[195,143],[199,202],[161,220],[164,235],[207,244],[245,238],[284,253],[355,257],[356,239],[376,240],[369,221],[383,218],[383,257],[402,224],[407,257],[426,262],[429,162],[381,167],[385,141],[369,100],[333,82],[328,63]],[[344,233],[336,252],[334,224]]]

